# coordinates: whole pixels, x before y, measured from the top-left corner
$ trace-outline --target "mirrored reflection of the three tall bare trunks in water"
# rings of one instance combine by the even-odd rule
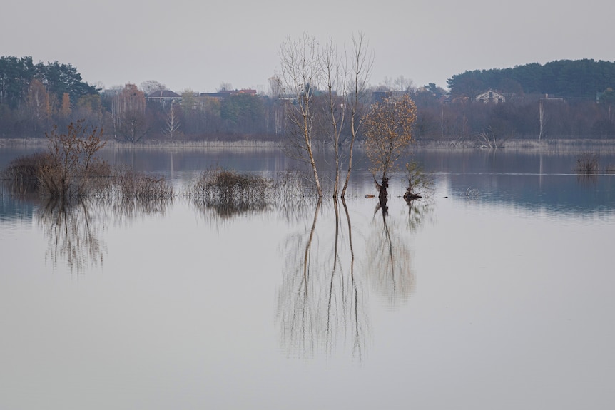
[[[276,322],[288,354],[310,356],[350,344],[361,359],[369,328],[365,293],[355,275],[352,225],[345,202],[345,230],[340,204],[333,200],[335,225],[317,226],[318,201],[308,232],[285,238],[285,268],[278,290]],[[332,236],[329,236],[332,235]],[[342,240],[342,238],[344,238]]]

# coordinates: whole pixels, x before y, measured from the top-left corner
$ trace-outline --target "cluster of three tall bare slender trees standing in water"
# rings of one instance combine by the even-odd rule
[[[320,47],[307,34],[295,41],[288,39],[280,47],[280,71],[272,78],[271,88],[286,101],[285,117],[290,125],[287,151],[310,164],[319,197],[322,187],[314,142],[320,137],[332,147],[326,160],[335,165],[334,197],[340,195],[342,167],[347,164],[340,195],[343,198],[352,171],[355,140],[367,111],[371,66],[372,57],[362,33],[352,38],[352,48],[343,53],[331,39]],[[347,125],[350,135],[342,132]]]

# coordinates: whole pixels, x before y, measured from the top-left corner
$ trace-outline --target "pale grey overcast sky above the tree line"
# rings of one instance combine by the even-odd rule
[[[107,88],[156,80],[173,90],[268,91],[278,48],[303,31],[350,43],[364,31],[370,83],[405,76],[446,87],[454,74],[526,63],[615,61],[612,0],[7,1],[1,56],[70,63]]]

